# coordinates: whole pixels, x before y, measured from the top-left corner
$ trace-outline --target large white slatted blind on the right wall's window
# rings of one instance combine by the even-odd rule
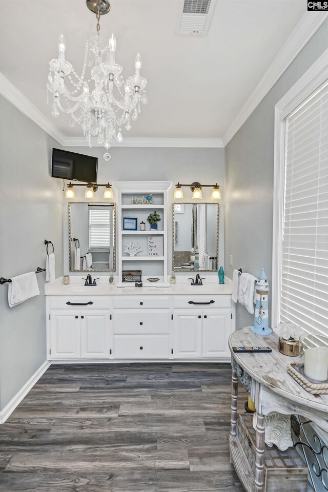
[[[328,335],[328,81],[285,118],[280,318]]]

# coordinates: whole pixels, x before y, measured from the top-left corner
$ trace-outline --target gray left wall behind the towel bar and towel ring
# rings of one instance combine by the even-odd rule
[[[56,276],[63,274],[60,182],[50,177],[57,142],[0,97],[0,276],[45,267],[45,239],[53,241]],[[3,409],[46,360],[45,273],[40,295],[9,308],[0,286],[0,397]]]

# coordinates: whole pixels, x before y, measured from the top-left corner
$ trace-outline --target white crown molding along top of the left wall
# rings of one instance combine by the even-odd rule
[[[4,96],[19,111],[24,113],[36,125],[52,136],[59,144],[63,145],[65,135],[32,104],[29,99],[0,72],[0,94]]]

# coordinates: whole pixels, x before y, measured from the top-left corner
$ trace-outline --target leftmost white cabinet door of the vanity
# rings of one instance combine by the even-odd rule
[[[51,310],[51,359],[78,359],[80,356],[79,311]]]

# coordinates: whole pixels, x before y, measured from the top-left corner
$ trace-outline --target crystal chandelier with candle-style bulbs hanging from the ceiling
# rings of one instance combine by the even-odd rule
[[[121,76],[122,67],[115,63],[114,34],[109,42],[99,36],[100,15],[110,11],[109,2],[87,0],[87,7],[96,14],[97,35],[86,43],[82,73],[78,75],[65,59],[66,44],[62,34],[58,40],[58,58],[49,63],[47,89],[53,94],[52,115],[57,117],[59,111],[70,113],[70,126],[73,127],[75,123],[81,125],[90,147],[91,138],[96,137],[97,144],[106,149],[104,159],[110,160],[108,149],[111,142],[114,139],[119,143],[124,140],[122,126],[130,131],[131,119],[138,119],[140,102],[148,103],[145,91],[147,80],[140,75],[141,57],[138,53],[135,58],[135,74],[124,81]],[[87,68],[90,69],[89,76]],[[93,89],[91,85],[94,85]]]

